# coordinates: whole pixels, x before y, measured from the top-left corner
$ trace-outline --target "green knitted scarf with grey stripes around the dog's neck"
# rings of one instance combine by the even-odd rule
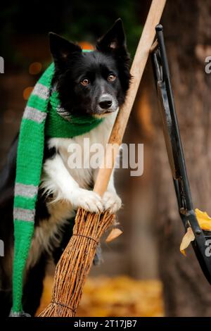
[[[23,277],[34,232],[37,193],[44,156],[45,137],[72,138],[101,123],[91,115],[70,115],[60,107],[52,89],[53,63],[35,85],[20,125],[14,197],[13,307],[10,316],[23,312]],[[35,285],[34,285],[35,286]]]

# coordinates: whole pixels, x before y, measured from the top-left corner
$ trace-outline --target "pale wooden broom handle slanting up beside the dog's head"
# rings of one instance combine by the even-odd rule
[[[132,106],[134,104],[136,93],[139,89],[139,84],[141,82],[143,70],[146,66],[148,54],[155,38],[155,26],[160,23],[160,18],[162,15],[162,11],[165,7],[165,2],[166,0],[152,0],[151,8],[148,12],[146,23],[143,27],[141,39],[136,49],[136,54],[134,56],[134,61],[130,70],[130,73],[132,75],[132,82],[127,93],[127,99],[117,114],[117,118],[115,120],[115,124],[113,125],[113,130],[110,134],[108,144],[117,144],[117,146],[120,146],[120,144],[122,143],[122,138],[127,125],[127,121],[129,119],[129,114],[132,111]],[[101,166],[98,171],[98,176],[94,185],[94,192],[100,194],[101,196],[103,196],[104,192],[106,192],[106,189],[108,187],[108,182],[110,180],[110,175],[115,165],[115,159],[118,151],[118,148],[115,148],[113,150],[106,149],[103,166]],[[108,161],[110,161],[110,163],[108,163]],[[106,164],[109,164],[109,168],[106,168]]]

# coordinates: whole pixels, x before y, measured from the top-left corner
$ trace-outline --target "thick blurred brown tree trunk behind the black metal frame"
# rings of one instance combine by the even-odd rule
[[[167,1],[162,24],[194,208],[211,215],[211,2]],[[155,111],[154,113],[158,113]],[[155,220],[166,316],[211,316],[211,287],[192,248],[179,252],[184,230],[177,211],[160,118],[155,115]]]

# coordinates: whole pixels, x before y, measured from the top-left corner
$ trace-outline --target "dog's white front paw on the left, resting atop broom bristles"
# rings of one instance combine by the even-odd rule
[[[103,211],[103,203],[101,196],[88,189],[77,189],[74,192],[74,199],[72,201],[75,208],[81,207],[85,211],[91,213],[98,213]]]

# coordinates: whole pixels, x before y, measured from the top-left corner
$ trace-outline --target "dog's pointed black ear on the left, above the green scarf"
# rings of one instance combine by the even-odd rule
[[[49,44],[53,60],[58,62],[65,62],[73,53],[81,53],[82,49],[79,45],[68,42],[67,39],[56,35],[56,33],[49,32]]]

